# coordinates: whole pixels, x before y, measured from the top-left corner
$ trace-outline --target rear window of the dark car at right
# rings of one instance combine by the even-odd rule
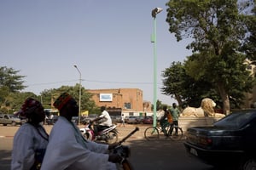
[[[230,127],[239,129],[247,124],[251,119],[256,117],[256,111],[239,111],[225,116],[223,119],[214,123],[215,127]]]

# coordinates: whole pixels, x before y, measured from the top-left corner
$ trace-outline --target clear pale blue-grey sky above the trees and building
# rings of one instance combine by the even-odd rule
[[[1,0],[0,66],[19,71],[23,92],[74,86],[85,89],[139,88],[143,100],[154,101],[154,31],[156,16],[157,96],[161,76],[173,61],[191,51],[177,42],[166,22],[167,0]],[[77,65],[79,71],[73,66]]]

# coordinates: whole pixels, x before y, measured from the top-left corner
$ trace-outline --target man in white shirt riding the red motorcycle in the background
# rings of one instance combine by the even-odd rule
[[[101,122],[100,124],[97,124],[96,126],[94,126],[94,133],[96,134],[102,131],[103,129],[112,126],[112,119],[109,116],[108,111],[106,111],[106,107],[102,106],[101,111],[102,111],[102,115],[92,120],[92,122],[97,122],[97,121]]]

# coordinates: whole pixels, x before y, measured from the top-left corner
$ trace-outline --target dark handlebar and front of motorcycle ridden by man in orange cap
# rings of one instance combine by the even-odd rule
[[[136,133],[139,130],[138,127],[136,127],[131,133],[129,133],[124,139],[120,140],[117,145],[113,148],[113,150],[110,150],[113,154],[118,154],[122,159],[117,164],[117,167],[119,170],[133,170],[134,168],[131,165],[131,162],[128,160],[128,157],[131,156],[131,149],[129,146],[122,145],[123,142],[125,142],[126,139],[130,138],[132,134]]]

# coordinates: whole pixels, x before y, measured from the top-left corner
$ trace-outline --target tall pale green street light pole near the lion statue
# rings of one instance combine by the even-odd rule
[[[154,119],[153,119],[153,126],[156,127],[156,89],[157,89],[157,69],[156,69],[156,62],[157,62],[157,57],[156,57],[156,14],[159,14],[163,9],[162,8],[154,8],[152,10],[152,17],[154,19],[154,32],[153,35],[151,36],[151,42],[154,43]]]

